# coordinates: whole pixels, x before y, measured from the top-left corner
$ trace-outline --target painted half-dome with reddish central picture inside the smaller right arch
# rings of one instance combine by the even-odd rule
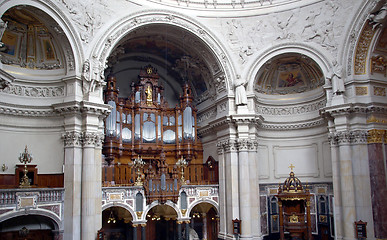
[[[309,57],[283,54],[267,62],[256,77],[256,90],[264,94],[294,94],[324,85],[321,69]]]

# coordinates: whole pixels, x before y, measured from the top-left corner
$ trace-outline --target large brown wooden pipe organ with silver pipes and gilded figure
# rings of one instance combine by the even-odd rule
[[[115,77],[107,80],[104,98],[112,110],[105,120],[103,185],[142,185],[148,203],[176,202],[181,184],[200,184],[208,170],[191,88],[185,84],[180,104],[170,108],[155,68],[142,68],[138,78],[125,99]]]

